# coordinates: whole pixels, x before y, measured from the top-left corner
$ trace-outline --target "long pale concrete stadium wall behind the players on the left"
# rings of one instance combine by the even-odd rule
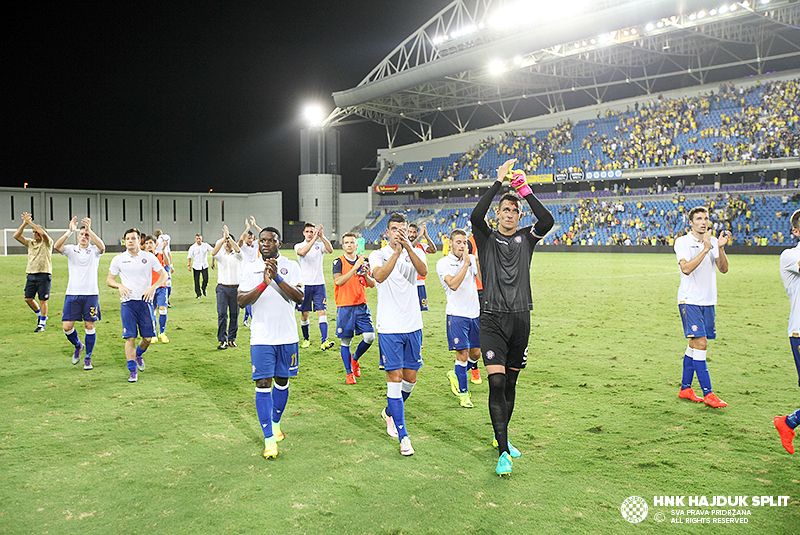
[[[92,228],[108,246],[122,238],[125,230],[136,227],[151,234],[161,229],[172,238],[174,250],[185,250],[194,235],[203,234],[208,242],[222,235],[222,225],[241,234],[244,220],[255,216],[260,227],[283,225],[283,195],[267,193],[137,193],[129,191],[55,190],[0,188],[2,228],[18,228],[22,213],[32,212],[33,221],[48,228],[67,228],[70,216],[92,219]],[[9,253],[25,249],[6,233]],[[57,239],[57,236],[53,236]],[[2,244],[0,243],[0,246]]]

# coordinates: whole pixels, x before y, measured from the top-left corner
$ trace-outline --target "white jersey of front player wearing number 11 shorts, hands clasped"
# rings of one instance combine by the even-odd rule
[[[266,264],[261,258],[248,263],[242,270],[240,292],[249,292],[264,282]],[[290,286],[300,286],[300,266],[294,260],[278,255],[278,274]],[[250,345],[282,345],[300,341],[295,319],[295,302],[283,293],[278,283],[270,282],[264,293],[253,303],[250,323]]]

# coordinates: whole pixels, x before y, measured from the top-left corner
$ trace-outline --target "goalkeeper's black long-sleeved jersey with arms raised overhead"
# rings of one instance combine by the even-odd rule
[[[481,312],[526,312],[533,309],[530,281],[533,249],[553,227],[553,216],[536,197],[529,195],[526,200],[536,216],[535,226],[521,228],[511,236],[490,229],[484,217],[501,185],[495,182],[489,188],[471,216],[483,280]]]

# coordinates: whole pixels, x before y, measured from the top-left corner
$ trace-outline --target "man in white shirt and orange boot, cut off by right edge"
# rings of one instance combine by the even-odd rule
[[[792,235],[800,238],[800,210],[792,214]],[[786,295],[789,296],[789,345],[797,368],[798,386],[800,386],[800,244],[781,253],[781,279]],[[800,409],[788,416],[776,416],[772,423],[781,437],[781,444],[789,453],[794,453],[792,440],[800,421]]]

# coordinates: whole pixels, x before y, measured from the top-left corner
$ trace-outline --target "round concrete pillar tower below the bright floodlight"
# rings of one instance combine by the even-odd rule
[[[339,241],[339,132],[317,127],[300,132],[300,175],[298,178],[301,221],[325,228],[328,239]]]

